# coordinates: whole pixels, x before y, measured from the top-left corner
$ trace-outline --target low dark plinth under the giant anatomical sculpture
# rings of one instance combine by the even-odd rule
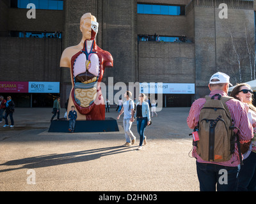
[[[52,120],[48,132],[69,133],[68,120]],[[105,120],[76,120],[74,133],[95,133],[95,132],[115,132],[119,131],[115,119],[106,117]]]

